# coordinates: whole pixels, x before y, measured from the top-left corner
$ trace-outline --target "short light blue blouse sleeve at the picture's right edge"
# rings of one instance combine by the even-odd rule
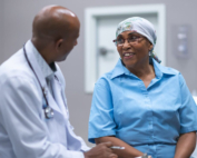
[[[181,75],[179,75],[179,81],[181,97],[180,134],[197,131],[197,106]]]

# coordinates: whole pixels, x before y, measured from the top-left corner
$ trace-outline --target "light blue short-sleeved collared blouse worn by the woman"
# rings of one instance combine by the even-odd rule
[[[197,130],[197,106],[180,72],[151,62],[156,77],[148,88],[121,60],[97,81],[90,142],[116,136],[154,158],[173,158],[179,135]]]

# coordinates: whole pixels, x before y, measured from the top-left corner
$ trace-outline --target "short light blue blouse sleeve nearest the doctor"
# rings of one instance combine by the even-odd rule
[[[89,118],[88,140],[95,142],[95,138],[116,135],[114,120],[114,105],[110,87],[105,79],[95,85]]]

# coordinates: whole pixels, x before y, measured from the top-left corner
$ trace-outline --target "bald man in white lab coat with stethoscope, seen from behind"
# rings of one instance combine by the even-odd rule
[[[49,6],[32,38],[0,67],[0,158],[117,158],[111,142],[90,149],[69,122],[65,79],[55,63],[77,45],[79,20]]]

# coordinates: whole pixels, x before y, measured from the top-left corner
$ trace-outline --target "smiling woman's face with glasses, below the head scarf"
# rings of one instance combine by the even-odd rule
[[[125,31],[117,37],[117,41],[120,43],[117,45],[117,50],[128,69],[149,65],[149,50],[152,45],[147,38],[135,31]]]

